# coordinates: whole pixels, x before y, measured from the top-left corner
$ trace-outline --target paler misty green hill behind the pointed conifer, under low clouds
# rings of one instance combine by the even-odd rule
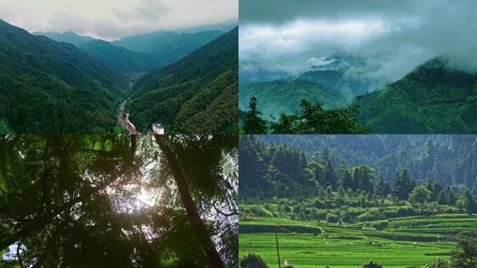
[[[311,103],[324,102],[326,108],[340,107],[347,101],[335,89],[302,79],[243,84],[240,87],[239,108],[248,110],[248,103],[253,96],[257,98],[258,110],[266,119],[271,114],[278,118],[283,112],[294,112],[302,99]]]

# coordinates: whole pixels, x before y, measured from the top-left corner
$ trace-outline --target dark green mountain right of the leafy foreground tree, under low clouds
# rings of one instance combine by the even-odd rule
[[[443,57],[356,101],[374,133],[477,133],[477,75]]]

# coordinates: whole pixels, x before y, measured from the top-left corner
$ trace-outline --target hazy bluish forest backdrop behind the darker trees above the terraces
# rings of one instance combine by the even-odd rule
[[[410,176],[418,182],[439,181],[443,186],[451,186],[455,192],[468,188],[477,194],[477,137],[474,135],[256,135],[255,137],[261,145],[259,147],[254,145],[253,148],[267,151],[267,146],[273,146],[282,149],[278,151],[295,150],[295,154],[298,154],[297,152],[303,154],[303,161],[307,165],[311,165],[314,159],[319,158],[324,151],[328,151],[335,168],[366,165],[374,170],[375,182],[383,179],[393,184],[395,174],[407,169]],[[253,144],[246,141],[244,137],[244,148]],[[250,164],[257,167],[257,163]],[[264,166],[268,167],[268,163],[264,163]]]

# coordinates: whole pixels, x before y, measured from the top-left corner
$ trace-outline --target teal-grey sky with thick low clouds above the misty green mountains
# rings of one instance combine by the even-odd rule
[[[440,54],[477,69],[475,0],[241,0],[239,12],[241,70],[296,74],[334,52],[387,80]]]

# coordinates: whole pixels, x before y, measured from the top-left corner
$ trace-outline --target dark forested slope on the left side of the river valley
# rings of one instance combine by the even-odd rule
[[[126,77],[0,20],[0,120],[15,133],[110,133]]]

